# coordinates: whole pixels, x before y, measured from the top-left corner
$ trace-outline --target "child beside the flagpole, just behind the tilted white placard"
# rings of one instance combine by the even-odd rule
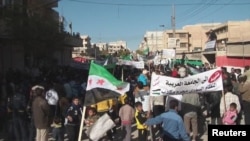
[[[87,129],[87,135],[89,136],[90,128],[92,125],[98,120],[99,116],[97,115],[96,108],[90,107],[88,110],[88,116],[85,119],[85,124],[88,127]]]

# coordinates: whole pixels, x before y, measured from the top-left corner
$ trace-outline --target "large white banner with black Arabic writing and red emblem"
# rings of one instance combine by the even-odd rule
[[[223,90],[221,68],[188,76],[173,78],[152,74],[151,96],[179,95]]]

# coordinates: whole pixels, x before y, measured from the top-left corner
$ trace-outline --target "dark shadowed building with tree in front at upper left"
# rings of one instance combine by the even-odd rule
[[[23,6],[20,6],[20,4]],[[6,11],[12,12],[12,7],[17,5],[18,8],[21,8],[20,10],[25,12],[18,13],[15,11],[17,12],[16,14],[19,14],[19,16],[14,18],[8,16],[5,13]],[[63,21],[59,20],[59,13],[54,9],[57,6],[57,0],[27,1],[27,3],[22,3],[21,0],[0,1],[0,71],[5,72],[9,68],[23,70],[26,67],[38,67],[39,65],[68,65],[71,62],[72,47],[81,46],[81,39],[79,39],[78,36],[73,36],[61,30]],[[24,26],[21,24],[23,23],[23,17],[29,19],[30,21],[28,22],[35,22],[34,18],[38,18],[39,20],[46,19],[46,21],[37,22],[39,26],[37,24],[29,24],[29,26]],[[16,28],[18,29],[18,33],[25,33],[18,36],[22,38],[17,38],[14,34],[8,32],[7,29],[11,29],[11,25],[7,23],[5,20],[6,18],[19,21],[16,22],[14,26],[20,26],[20,28]],[[39,31],[42,31],[42,29],[38,27],[41,25],[46,25],[48,22],[51,22],[51,25],[53,26],[51,28],[46,27],[46,29],[53,30],[48,30],[48,32],[43,32],[43,34],[39,34],[40,32],[35,32],[32,30],[37,28]],[[26,28],[24,29],[24,27]],[[33,28],[31,29],[30,27]],[[27,33],[20,31],[27,31]],[[50,32],[53,32],[53,34]],[[46,35],[49,35],[50,37],[53,37],[53,35],[56,37],[60,36],[60,39],[50,38]],[[27,37],[32,37],[32,39],[29,40],[30,38]],[[53,41],[51,41],[51,39],[53,39]],[[57,40],[60,42],[57,42]],[[50,44],[47,41],[51,41],[53,43],[50,42]],[[44,44],[44,42],[46,42],[46,44]],[[54,47],[53,49],[50,48],[50,45],[52,44]],[[46,47],[46,49],[43,47]]]

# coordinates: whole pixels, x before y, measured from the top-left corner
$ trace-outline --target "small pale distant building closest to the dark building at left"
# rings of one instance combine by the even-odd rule
[[[82,46],[73,48],[73,58],[86,55],[87,49],[91,48],[91,38],[88,35],[82,35],[80,37],[82,39]]]

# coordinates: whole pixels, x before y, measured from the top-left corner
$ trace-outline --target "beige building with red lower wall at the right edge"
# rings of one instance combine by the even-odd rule
[[[250,21],[228,21],[213,28],[217,35],[215,51],[202,54],[216,66],[250,65]],[[209,31],[206,33],[208,34]]]

